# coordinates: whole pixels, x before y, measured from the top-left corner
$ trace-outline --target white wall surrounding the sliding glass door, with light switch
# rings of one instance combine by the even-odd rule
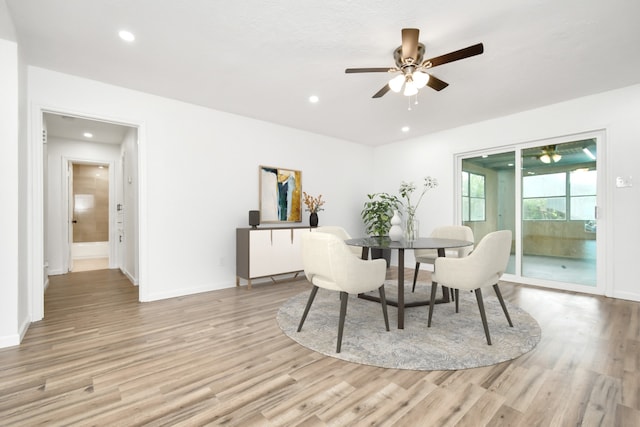
[[[606,130],[607,295],[640,301],[634,266],[640,238],[640,85],[588,96],[495,120],[439,132],[375,150],[373,168],[384,191],[397,193],[402,180],[437,177],[418,212],[421,234],[454,218],[454,155],[598,129]],[[599,153],[600,154],[600,153]],[[616,176],[634,176],[631,188],[616,188]],[[599,238],[601,233],[599,234]],[[413,265],[412,256],[405,258]]]

